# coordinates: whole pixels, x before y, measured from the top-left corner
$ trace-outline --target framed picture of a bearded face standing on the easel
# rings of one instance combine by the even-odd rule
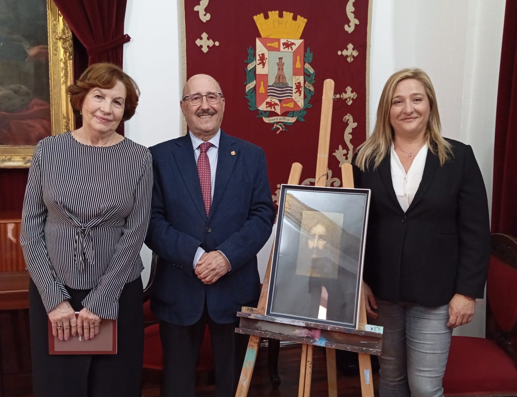
[[[370,190],[282,185],[266,314],[357,329]]]

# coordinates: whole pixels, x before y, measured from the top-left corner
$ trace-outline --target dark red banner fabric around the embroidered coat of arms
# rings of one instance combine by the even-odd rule
[[[332,79],[336,83],[334,94],[343,93],[347,86],[351,86],[352,91],[357,93],[351,105],[341,98],[333,102],[329,149],[329,169],[333,177],[341,179],[339,161],[332,154],[339,145],[347,147],[344,132],[348,124],[343,122],[346,114],[351,114],[357,123],[352,132],[354,149],[366,139],[368,1],[354,2],[353,12],[359,24],[355,25],[352,33],[344,29],[345,24],[349,24],[346,4],[342,0],[320,3],[308,0],[280,3],[271,0],[209,2],[205,12],[210,14],[210,19],[203,22],[199,12],[194,11],[199,1],[185,1],[187,79],[193,74],[208,73],[221,83],[226,98],[222,129],[264,149],[273,194],[278,184],[287,182],[293,162],[303,165],[300,182],[314,178],[325,79]],[[305,40],[305,50],[309,48],[313,53],[310,65],[316,72],[315,94],[309,102],[313,107],[307,109],[305,121],[296,121],[286,127],[288,131],[280,131],[278,134],[278,129],[271,131],[272,125],[265,123],[262,118],[256,118],[258,111],[250,111],[245,98],[247,49],[255,49],[255,39],[260,37],[253,16],[263,13],[267,19],[268,11],[271,10],[279,10],[280,17],[285,10],[294,14],[293,20],[296,20],[297,15],[307,19],[300,39]],[[213,45],[206,54],[195,44],[203,32],[207,33],[209,40],[219,42],[219,46]],[[338,55],[338,51],[346,49],[348,43],[352,43],[359,52],[352,63],[348,63],[343,55]],[[277,114],[271,112],[269,117],[272,116]]]

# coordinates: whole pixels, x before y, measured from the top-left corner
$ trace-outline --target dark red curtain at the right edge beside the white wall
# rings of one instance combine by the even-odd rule
[[[517,2],[506,1],[494,144],[492,232],[517,236]]]

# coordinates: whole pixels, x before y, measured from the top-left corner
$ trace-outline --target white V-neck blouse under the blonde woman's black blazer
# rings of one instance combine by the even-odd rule
[[[406,174],[399,156],[395,151],[395,147],[391,144],[391,181],[397,200],[404,212],[406,212],[409,205],[411,205],[413,197],[415,197],[418,187],[420,186],[427,152],[428,147],[425,145],[416,154]]]

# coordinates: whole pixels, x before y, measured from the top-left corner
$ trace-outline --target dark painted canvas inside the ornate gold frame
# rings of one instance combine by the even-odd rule
[[[46,0],[0,0],[0,145],[51,134]]]

